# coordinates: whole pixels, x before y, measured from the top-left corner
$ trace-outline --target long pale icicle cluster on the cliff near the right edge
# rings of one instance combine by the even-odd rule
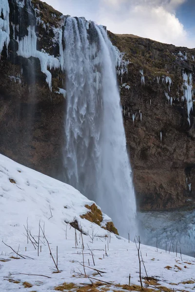
[[[183,73],[183,100],[186,99],[187,112],[188,112],[188,122],[190,124],[190,112],[193,110],[193,84],[192,84],[192,73]]]

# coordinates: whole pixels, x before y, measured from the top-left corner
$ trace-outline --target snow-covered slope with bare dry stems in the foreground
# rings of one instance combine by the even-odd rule
[[[0,155],[0,291],[140,291],[136,244],[81,219],[92,204],[73,187]],[[101,225],[110,220],[103,215]],[[151,289],[145,292],[193,291],[194,258],[140,250],[149,277],[141,262],[143,286]],[[129,274],[131,286],[123,286]],[[98,284],[85,287],[90,281]]]

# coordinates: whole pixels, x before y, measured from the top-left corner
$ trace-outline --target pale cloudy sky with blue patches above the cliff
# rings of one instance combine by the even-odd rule
[[[116,34],[195,48],[195,0],[45,0],[64,15],[84,16]]]

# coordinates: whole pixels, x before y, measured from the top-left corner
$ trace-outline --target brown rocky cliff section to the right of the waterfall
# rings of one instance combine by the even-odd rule
[[[121,103],[140,208],[192,205],[195,110],[189,123],[183,74],[192,74],[195,84],[195,49],[131,35],[110,38],[130,60]]]

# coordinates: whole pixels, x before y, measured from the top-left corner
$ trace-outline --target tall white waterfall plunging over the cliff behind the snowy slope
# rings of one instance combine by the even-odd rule
[[[96,201],[119,234],[136,232],[136,200],[116,77],[102,26],[67,17],[64,35],[66,182]]]

